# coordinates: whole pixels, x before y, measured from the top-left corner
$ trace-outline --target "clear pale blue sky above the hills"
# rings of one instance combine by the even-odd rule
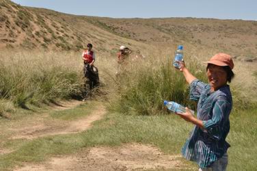
[[[113,18],[195,17],[257,21],[257,0],[12,0],[58,12]]]

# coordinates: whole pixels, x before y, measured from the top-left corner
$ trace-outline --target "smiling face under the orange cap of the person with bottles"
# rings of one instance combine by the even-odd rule
[[[221,66],[209,64],[207,77],[212,90],[218,90],[227,83],[227,73]]]

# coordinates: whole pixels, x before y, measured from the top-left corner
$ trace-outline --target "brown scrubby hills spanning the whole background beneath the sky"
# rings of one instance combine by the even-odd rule
[[[87,42],[104,51],[124,42],[257,53],[257,22],[204,18],[105,18],[75,16],[0,1],[0,48],[77,51]]]

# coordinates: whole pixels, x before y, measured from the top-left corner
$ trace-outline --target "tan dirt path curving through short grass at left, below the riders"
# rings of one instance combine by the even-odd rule
[[[51,110],[60,111],[66,109],[75,108],[85,102],[82,101],[63,101],[62,103],[51,106]],[[1,129],[7,131],[3,137],[4,143],[6,140],[18,140],[27,139],[32,140],[38,137],[44,137],[48,135],[60,135],[67,133],[79,133],[90,129],[92,122],[100,120],[105,114],[105,107],[98,105],[98,109],[92,111],[92,114],[79,118],[73,121],[60,121],[49,117],[49,113],[40,115],[28,116],[27,118],[21,118],[21,120],[13,120]],[[15,149],[3,148],[0,146],[0,155],[12,153]]]

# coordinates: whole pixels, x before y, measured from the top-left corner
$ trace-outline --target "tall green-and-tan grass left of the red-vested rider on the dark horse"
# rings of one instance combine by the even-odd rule
[[[81,94],[81,59],[76,53],[4,51],[0,97],[19,107]]]

